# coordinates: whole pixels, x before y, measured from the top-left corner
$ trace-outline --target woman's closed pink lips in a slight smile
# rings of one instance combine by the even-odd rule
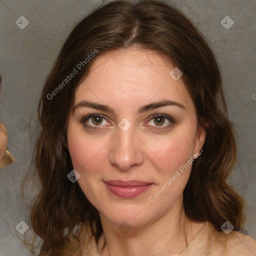
[[[137,196],[153,185],[140,180],[107,180],[104,182],[110,192],[123,198]]]

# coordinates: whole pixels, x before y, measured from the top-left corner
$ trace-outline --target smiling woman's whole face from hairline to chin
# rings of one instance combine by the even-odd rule
[[[117,225],[142,225],[182,206],[204,131],[173,67],[146,50],[113,51],[98,56],[76,88],[67,142],[77,182]]]

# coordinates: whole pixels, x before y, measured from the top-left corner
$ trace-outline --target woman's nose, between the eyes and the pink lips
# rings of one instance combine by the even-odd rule
[[[134,133],[132,126],[123,131],[117,127],[109,153],[109,162],[121,170],[143,163],[143,142]]]

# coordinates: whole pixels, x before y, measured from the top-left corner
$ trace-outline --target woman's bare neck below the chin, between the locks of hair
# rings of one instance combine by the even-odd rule
[[[101,256],[176,255],[184,250],[203,225],[185,216],[182,203],[177,210],[132,227],[125,234],[102,214],[100,220],[103,234],[99,238],[97,251]]]

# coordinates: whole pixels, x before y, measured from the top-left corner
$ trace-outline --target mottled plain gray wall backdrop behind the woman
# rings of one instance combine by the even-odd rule
[[[100,2],[0,0],[0,73],[3,77],[0,120],[8,129],[8,149],[17,159],[0,170],[0,256],[30,255],[21,241],[23,235],[15,226],[21,220],[29,225],[28,204],[36,191],[32,181],[23,196],[20,189],[35,141],[39,94],[72,25]],[[172,2],[202,31],[221,66],[229,117],[235,123],[238,145],[237,164],[229,183],[238,188],[249,204],[245,228],[255,239],[256,1]],[[20,16],[29,21],[24,29],[15,23]],[[220,23],[225,16],[234,21],[229,29]]]

